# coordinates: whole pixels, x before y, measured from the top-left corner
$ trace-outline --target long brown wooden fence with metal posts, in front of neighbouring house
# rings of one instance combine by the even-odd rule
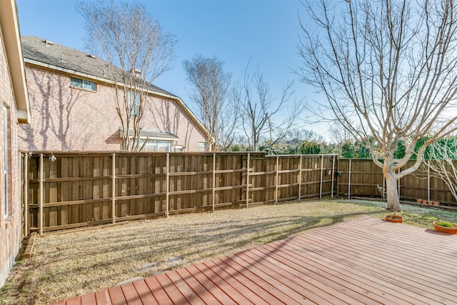
[[[41,152],[22,158],[25,236],[333,196],[336,186],[336,155]]]

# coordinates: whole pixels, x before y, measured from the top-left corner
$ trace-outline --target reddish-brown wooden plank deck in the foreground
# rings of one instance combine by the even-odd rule
[[[362,218],[56,304],[457,304],[457,236]]]

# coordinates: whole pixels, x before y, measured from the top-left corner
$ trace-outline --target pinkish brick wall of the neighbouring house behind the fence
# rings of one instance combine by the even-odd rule
[[[96,83],[96,91],[70,86],[70,75],[26,66],[31,124],[21,126],[20,148],[29,151],[109,151],[121,149],[120,119],[114,91]],[[77,76],[75,76],[77,77]],[[198,151],[204,134],[174,99],[150,97],[142,128],[171,131],[174,145]]]

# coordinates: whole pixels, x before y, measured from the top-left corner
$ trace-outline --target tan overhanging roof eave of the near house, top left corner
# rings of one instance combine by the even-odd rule
[[[16,1],[0,1],[0,25],[16,101],[17,120],[19,123],[28,124],[30,122],[30,103]]]

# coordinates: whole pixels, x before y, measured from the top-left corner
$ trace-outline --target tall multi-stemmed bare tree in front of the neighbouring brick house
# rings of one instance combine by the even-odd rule
[[[88,49],[106,61],[114,82],[114,103],[123,133],[122,147],[141,149],[141,119],[153,81],[169,70],[174,36],[167,34],[140,4],[80,2]]]

